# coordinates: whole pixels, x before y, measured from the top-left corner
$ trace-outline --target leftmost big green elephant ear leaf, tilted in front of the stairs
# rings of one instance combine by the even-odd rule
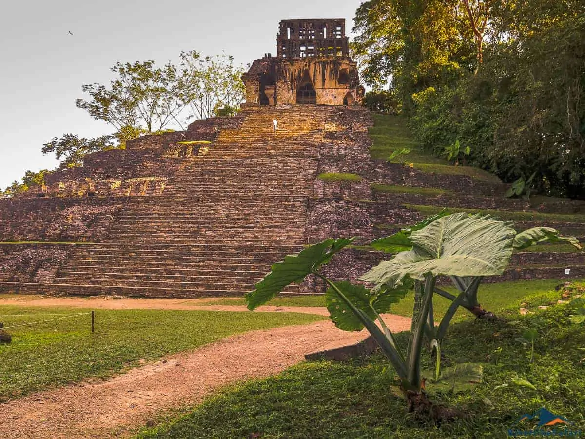
[[[284,287],[291,283],[302,282],[313,269],[329,262],[335,253],[352,243],[354,239],[329,238],[303,249],[297,255],[284,256],[283,261],[275,263],[271,272],[256,283],[256,289],[246,294],[248,309],[254,310],[273,299],[277,293],[280,293]]]

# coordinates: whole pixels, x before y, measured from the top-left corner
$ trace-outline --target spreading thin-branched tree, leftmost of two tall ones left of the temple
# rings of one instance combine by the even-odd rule
[[[109,87],[102,84],[83,85],[91,100],[77,99],[75,105],[85,109],[94,119],[112,125],[122,141],[134,139],[141,132],[153,134],[175,122],[183,109],[181,78],[177,67],[167,63],[155,68],[154,61],[120,62],[111,69],[118,77]]]

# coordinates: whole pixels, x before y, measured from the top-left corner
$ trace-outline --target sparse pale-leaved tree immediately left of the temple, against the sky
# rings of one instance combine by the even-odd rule
[[[191,112],[187,119],[207,119],[223,108],[235,114],[246,91],[243,73],[242,67],[234,66],[232,56],[181,52],[181,99]]]

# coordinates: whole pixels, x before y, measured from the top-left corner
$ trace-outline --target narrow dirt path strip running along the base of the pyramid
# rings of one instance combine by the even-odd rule
[[[111,296],[92,297],[43,297],[43,296],[1,296],[0,305],[40,306],[40,307],[75,307],[102,310],[204,310],[204,311],[247,311],[243,305],[204,305],[213,299],[138,299],[123,297],[112,299]],[[237,301],[238,299],[234,299]],[[303,313],[329,315],[326,308],[300,306],[261,306],[254,312],[266,313]]]

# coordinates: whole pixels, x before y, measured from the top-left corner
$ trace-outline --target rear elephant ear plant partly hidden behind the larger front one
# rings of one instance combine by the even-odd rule
[[[442,218],[445,215],[448,215],[448,213],[446,210],[443,210],[432,217],[426,218],[418,224],[398,231],[394,235],[374,239],[374,241],[370,243],[370,246],[378,251],[386,253],[397,253],[406,249],[411,249],[413,245],[410,239],[412,232],[426,227],[426,225],[431,224],[431,222],[436,221],[436,219]],[[512,241],[512,248],[514,250],[522,250],[542,242],[568,243],[576,249],[581,250],[579,241],[577,241],[576,238],[572,236],[560,236],[556,229],[550,227],[534,227],[515,234],[514,241]],[[438,287],[435,287],[435,293],[451,300],[454,304],[457,303],[453,308],[453,312],[456,311],[457,306],[461,306],[478,318],[484,318],[486,320],[497,319],[497,316],[494,313],[486,311],[481,307],[479,299],[477,298],[481,277],[478,279],[473,276],[451,276],[451,280],[456,289],[459,290],[459,293],[465,292],[463,297],[460,297],[457,301],[457,297],[459,296],[454,296]]]

